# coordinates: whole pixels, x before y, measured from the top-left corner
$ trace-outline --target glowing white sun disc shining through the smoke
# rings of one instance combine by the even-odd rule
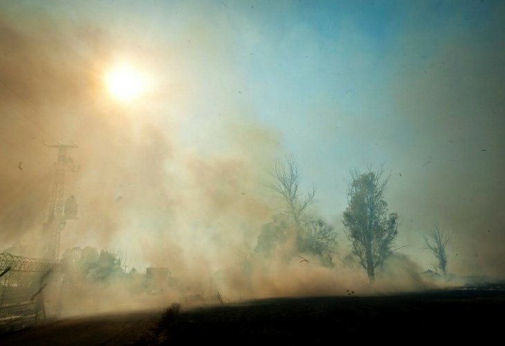
[[[134,100],[147,88],[145,76],[126,64],[115,66],[108,71],[105,84],[111,95],[121,101]]]

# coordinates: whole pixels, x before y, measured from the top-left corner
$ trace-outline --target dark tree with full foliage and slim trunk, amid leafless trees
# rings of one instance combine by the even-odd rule
[[[351,242],[351,252],[358,257],[367,270],[371,281],[375,278],[375,269],[393,253],[392,245],[398,235],[398,215],[387,214],[384,193],[391,175],[383,177],[384,170],[360,174],[351,171],[347,201],[349,206],[344,212],[343,224]]]

